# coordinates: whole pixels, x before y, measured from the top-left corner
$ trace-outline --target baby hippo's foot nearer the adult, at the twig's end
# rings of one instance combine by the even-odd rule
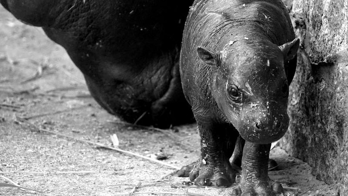
[[[184,166],[177,172],[180,177],[190,177],[198,186],[229,187],[236,179],[236,170],[232,169],[228,159],[216,161],[213,159],[199,159]]]

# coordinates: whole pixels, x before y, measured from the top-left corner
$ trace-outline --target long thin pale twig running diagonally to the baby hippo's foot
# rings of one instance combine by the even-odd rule
[[[22,121],[22,122],[21,122],[21,121]],[[87,140],[82,140],[82,139],[74,138],[74,137],[72,137],[72,136],[68,136],[68,135],[56,133],[56,132],[54,132],[54,131],[48,131],[48,130],[45,130],[45,129],[43,129],[43,128],[37,127],[36,125],[30,123],[29,121],[27,121],[27,120],[25,120],[25,119],[17,118],[17,122],[18,122],[18,123],[24,123],[24,124],[27,124],[27,125],[32,126],[32,127],[34,126],[34,127],[36,127],[37,130],[39,130],[39,131],[41,131],[41,132],[51,133],[51,134],[58,135],[58,136],[61,136],[61,137],[64,137],[64,138],[73,139],[73,140],[80,141],[80,142],[83,142],[83,143],[89,143],[89,144],[92,144],[92,145],[95,145],[95,146],[103,147],[103,148],[110,149],[110,150],[115,150],[115,151],[122,152],[122,153],[128,154],[128,155],[133,155],[133,156],[136,156],[136,157],[140,157],[140,158],[143,158],[143,159],[150,160],[150,161],[155,162],[155,163],[159,163],[159,164],[161,164],[161,165],[165,165],[165,166],[167,166],[167,167],[169,167],[169,168],[174,168],[174,169],[176,169],[176,170],[179,170],[179,169],[180,169],[180,167],[176,167],[176,166],[174,166],[174,165],[165,163],[165,162],[160,161],[160,160],[157,160],[157,159],[149,158],[149,157],[146,157],[146,156],[137,154],[137,153],[135,153],[135,152],[131,152],[131,151],[127,151],[127,150],[121,150],[121,149],[119,149],[119,148],[113,148],[113,147],[110,147],[110,146],[105,146],[105,145],[103,145],[103,144],[99,144],[99,143],[96,143],[96,142],[91,142],[91,141],[87,141]]]

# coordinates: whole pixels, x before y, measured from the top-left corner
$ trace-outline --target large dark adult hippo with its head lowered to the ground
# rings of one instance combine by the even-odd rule
[[[182,30],[193,0],[0,2],[66,49],[108,112],[157,127],[194,121],[179,76]]]

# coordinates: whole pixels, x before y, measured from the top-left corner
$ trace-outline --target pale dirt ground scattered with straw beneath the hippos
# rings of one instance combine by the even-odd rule
[[[199,155],[196,125],[166,132],[130,126],[109,115],[90,97],[80,71],[65,50],[40,28],[25,25],[0,8],[0,183],[42,191],[0,187],[0,195],[230,195],[234,186],[188,186],[188,178],[161,180],[174,170],[61,135],[144,156],[164,153],[181,167]],[[311,167],[279,147],[271,151],[280,170],[270,178],[284,196],[338,195],[336,186],[310,175]],[[281,195],[281,194],[280,194]]]

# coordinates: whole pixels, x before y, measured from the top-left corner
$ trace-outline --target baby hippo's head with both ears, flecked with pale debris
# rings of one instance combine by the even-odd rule
[[[198,47],[201,61],[214,66],[211,84],[219,109],[245,140],[267,144],[280,139],[287,115],[288,61],[296,56],[299,39],[277,46],[269,41],[230,42],[219,53]]]

